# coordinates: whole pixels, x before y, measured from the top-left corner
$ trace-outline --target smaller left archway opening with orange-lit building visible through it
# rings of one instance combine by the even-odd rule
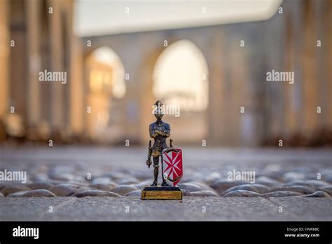
[[[94,50],[85,60],[87,81],[85,128],[99,142],[117,142],[123,136],[125,69],[120,57],[109,47]]]

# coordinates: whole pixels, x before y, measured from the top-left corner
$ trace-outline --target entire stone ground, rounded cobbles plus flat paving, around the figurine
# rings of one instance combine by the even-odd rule
[[[27,171],[0,181],[0,220],[332,220],[331,149],[183,149],[183,201],[141,201],[145,148],[0,147],[0,171]]]

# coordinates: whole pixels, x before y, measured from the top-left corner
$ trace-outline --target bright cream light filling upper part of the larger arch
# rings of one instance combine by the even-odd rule
[[[194,43],[177,41],[162,52],[153,71],[153,93],[183,111],[200,111],[208,102],[208,69]]]

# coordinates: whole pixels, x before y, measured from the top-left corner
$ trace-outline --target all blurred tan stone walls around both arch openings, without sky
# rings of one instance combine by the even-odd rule
[[[49,13],[50,6],[53,13]],[[282,13],[278,10],[270,20],[260,22],[79,40],[72,33],[72,1],[1,0],[0,140],[11,135],[59,142],[89,137],[88,78],[83,71],[89,55],[107,46],[118,54],[130,76],[125,97],[112,102],[117,112],[109,112],[110,121],[112,116],[121,117],[118,121],[123,121],[123,129],[117,135],[121,142],[146,144],[148,125],[154,121],[151,105],[159,98],[153,95],[155,63],[167,48],[165,40],[170,46],[186,39],[207,61],[209,104],[199,114],[165,116],[171,122],[175,144],[201,145],[205,140],[214,145],[259,146],[277,145],[282,139],[285,145],[316,145],[319,142],[312,140],[322,137],[328,143],[332,129],[332,2],[294,0],[284,1],[281,7]],[[44,69],[67,72],[67,83],[39,82],[39,72]],[[294,83],[266,81],[266,73],[272,69],[294,72]],[[11,107],[22,120],[11,118]],[[317,107],[321,107],[320,114]],[[11,128],[13,121],[23,126]],[[18,133],[22,128],[24,136]],[[199,136],[191,136],[196,130],[201,132]]]

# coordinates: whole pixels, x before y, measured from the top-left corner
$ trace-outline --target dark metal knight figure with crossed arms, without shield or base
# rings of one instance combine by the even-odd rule
[[[155,106],[160,107],[162,103],[158,100],[155,102]],[[150,137],[154,139],[153,146],[151,147],[151,156],[153,156],[153,176],[154,180],[151,186],[156,186],[158,184],[158,174],[159,174],[159,158],[161,158],[162,163],[162,150],[167,149],[166,138],[170,137],[170,125],[162,121],[163,114],[160,112],[155,113],[155,118],[157,121],[151,123],[149,126]],[[170,187],[169,184],[162,177],[162,187]]]

